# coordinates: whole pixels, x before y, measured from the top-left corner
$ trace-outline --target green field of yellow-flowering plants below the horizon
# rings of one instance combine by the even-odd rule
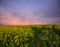
[[[0,26],[0,47],[60,47],[60,25]]]

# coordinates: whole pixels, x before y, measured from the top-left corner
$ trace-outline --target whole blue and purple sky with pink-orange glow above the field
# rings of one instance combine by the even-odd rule
[[[60,24],[60,0],[0,0],[0,25]]]

